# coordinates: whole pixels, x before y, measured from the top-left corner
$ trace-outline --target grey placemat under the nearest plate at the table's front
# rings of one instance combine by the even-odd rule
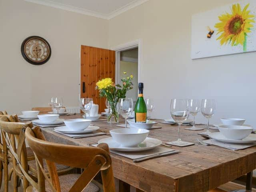
[[[97,144],[94,144],[92,146],[96,147]],[[162,157],[162,156],[175,154],[180,151],[159,146],[152,150],[138,151],[138,152],[122,152],[122,151],[114,151],[114,150],[110,150],[110,152],[114,153],[114,154],[118,154],[118,155],[126,157],[126,158],[129,158],[129,159],[132,159],[133,162],[141,162],[141,161],[156,158],[156,157]]]

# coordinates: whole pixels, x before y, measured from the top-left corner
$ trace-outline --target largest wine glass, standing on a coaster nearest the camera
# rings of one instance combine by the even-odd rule
[[[178,140],[170,142],[170,144],[184,146],[188,144],[188,142],[184,142],[180,138],[180,126],[181,124],[187,120],[189,115],[188,109],[188,100],[187,99],[172,99],[170,112],[173,120],[178,123]]]

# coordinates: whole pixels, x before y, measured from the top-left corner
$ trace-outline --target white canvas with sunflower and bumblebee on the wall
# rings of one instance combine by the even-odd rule
[[[191,58],[256,51],[256,0],[192,16]]]

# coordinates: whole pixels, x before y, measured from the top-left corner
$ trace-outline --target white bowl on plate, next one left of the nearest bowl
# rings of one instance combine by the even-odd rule
[[[64,124],[70,129],[74,131],[85,130],[88,128],[92,120],[90,119],[67,119],[64,120]]]

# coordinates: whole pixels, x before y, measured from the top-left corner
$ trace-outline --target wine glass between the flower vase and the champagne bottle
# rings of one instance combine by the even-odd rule
[[[131,116],[133,112],[132,98],[119,99],[118,109],[122,117],[125,119],[125,128],[127,128],[127,118]]]

